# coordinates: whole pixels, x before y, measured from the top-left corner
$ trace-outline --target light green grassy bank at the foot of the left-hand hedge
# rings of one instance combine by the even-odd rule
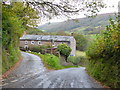
[[[19,49],[13,48],[12,50],[2,50],[2,74],[14,66],[21,58]]]

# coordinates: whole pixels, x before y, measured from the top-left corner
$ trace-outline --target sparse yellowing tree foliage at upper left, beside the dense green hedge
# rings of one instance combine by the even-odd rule
[[[39,12],[24,2],[12,2],[10,8],[22,20],[22,25],[28,27],[36,27],[36,20],[39,19]]]

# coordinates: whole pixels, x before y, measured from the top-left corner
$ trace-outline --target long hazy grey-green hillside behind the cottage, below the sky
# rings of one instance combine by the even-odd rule
[[[38,29],[44,30],[45,32],[67,31],[81,34],[96,34],[100,30],[105,29],[110,18],[115,19],[115,14],[108,13],[98,15],[95,18],[78,18],[64,22],[47,23],[39,26]]]

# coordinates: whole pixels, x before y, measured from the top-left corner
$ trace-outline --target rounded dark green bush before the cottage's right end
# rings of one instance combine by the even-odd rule
[[[60,55],[65,57],[65,60],[67,62],[67,58],[70,55],[72,49],[67,44],[59,44],[57,49]]]

